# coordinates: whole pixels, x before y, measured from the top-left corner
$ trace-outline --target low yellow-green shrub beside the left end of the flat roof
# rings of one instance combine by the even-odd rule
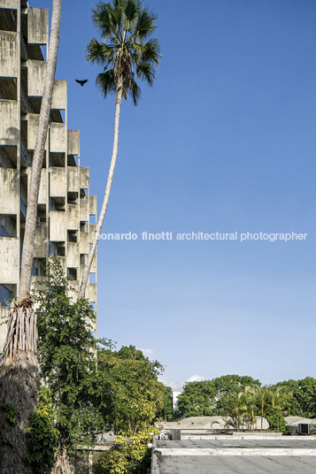
[[[158,434],[158,430],[147,428],[129,439],[117,436],[114,447],[99,456],[95,465],[96,474],[146,474],[150,466],[148,443],[154,433]]]

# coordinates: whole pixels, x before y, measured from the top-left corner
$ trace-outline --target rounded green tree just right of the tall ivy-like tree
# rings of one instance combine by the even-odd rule
[[[134,346],[99,350],[100,409],[109,429],[133,436],[150,426],[163,407],[165,386],[158,382],[161,371],[158,361],[150,362]]]

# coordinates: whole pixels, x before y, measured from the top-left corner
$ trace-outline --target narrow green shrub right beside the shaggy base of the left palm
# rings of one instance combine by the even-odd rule
[[[27,428],[28,454],[25,459],[35,474],[50,474],[58,448],[59,432],[54,428],[55,412],[48,388],[41,388],[39,401],[40,407],[31,415],[30,427]]]

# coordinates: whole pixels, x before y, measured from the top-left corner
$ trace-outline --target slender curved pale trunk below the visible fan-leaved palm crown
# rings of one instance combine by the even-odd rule
[[[104,223],[104,217],[106,214],[107,206],[109,203],[111,187],[112,187],[112,180],[115,170],[116,158],[118,156],[118,147],[119,147],[119,112],[120,112],[120,105],[122,103],[122,96],[123,96],[123,84],[122,80],[119,81],[117,93],[116,93],[116,105],[115,105],[115,119],[114,119],[114,138],[113,138],[113,148],[112,148],[112,159],[110,164],[110,170],[106,181],[106,187],[104,192],[104,202],[102,204],[102,209],[100,212],[100,216],[97,220],[96,224],[96,232],[93,236],[92,245],[89,251],[88,262],[84,267],[82,279],[81,279],[81,287],[78,294],[78,299],[82,299],[86,293],[86,287],[89,281],[89,273],[90,268],[92,265],[93,257],[96,253],[96,245],[100,237],[101,229]]]

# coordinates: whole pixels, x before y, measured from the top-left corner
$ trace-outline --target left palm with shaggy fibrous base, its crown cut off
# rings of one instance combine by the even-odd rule
[[[28,417],[36,407],[39,386],[39,366],[35,354],[36,318],[35,311],[32,309],[30,286],[42,158],[49,126],[50,104],[58,56],[61,1],[53,0],[46,79],[28,192],[19,295],[18,302],[11,310],[0,371],[0,406],[14,407],[18,410],[16,423],[8,423],[4,416],[0,420],[2,426],[0,470],[1,472],[19,472],[19,474],[32,472],[23,460],[27,453]],[[0,417],[2,414],[3,411],[0,413]]]

